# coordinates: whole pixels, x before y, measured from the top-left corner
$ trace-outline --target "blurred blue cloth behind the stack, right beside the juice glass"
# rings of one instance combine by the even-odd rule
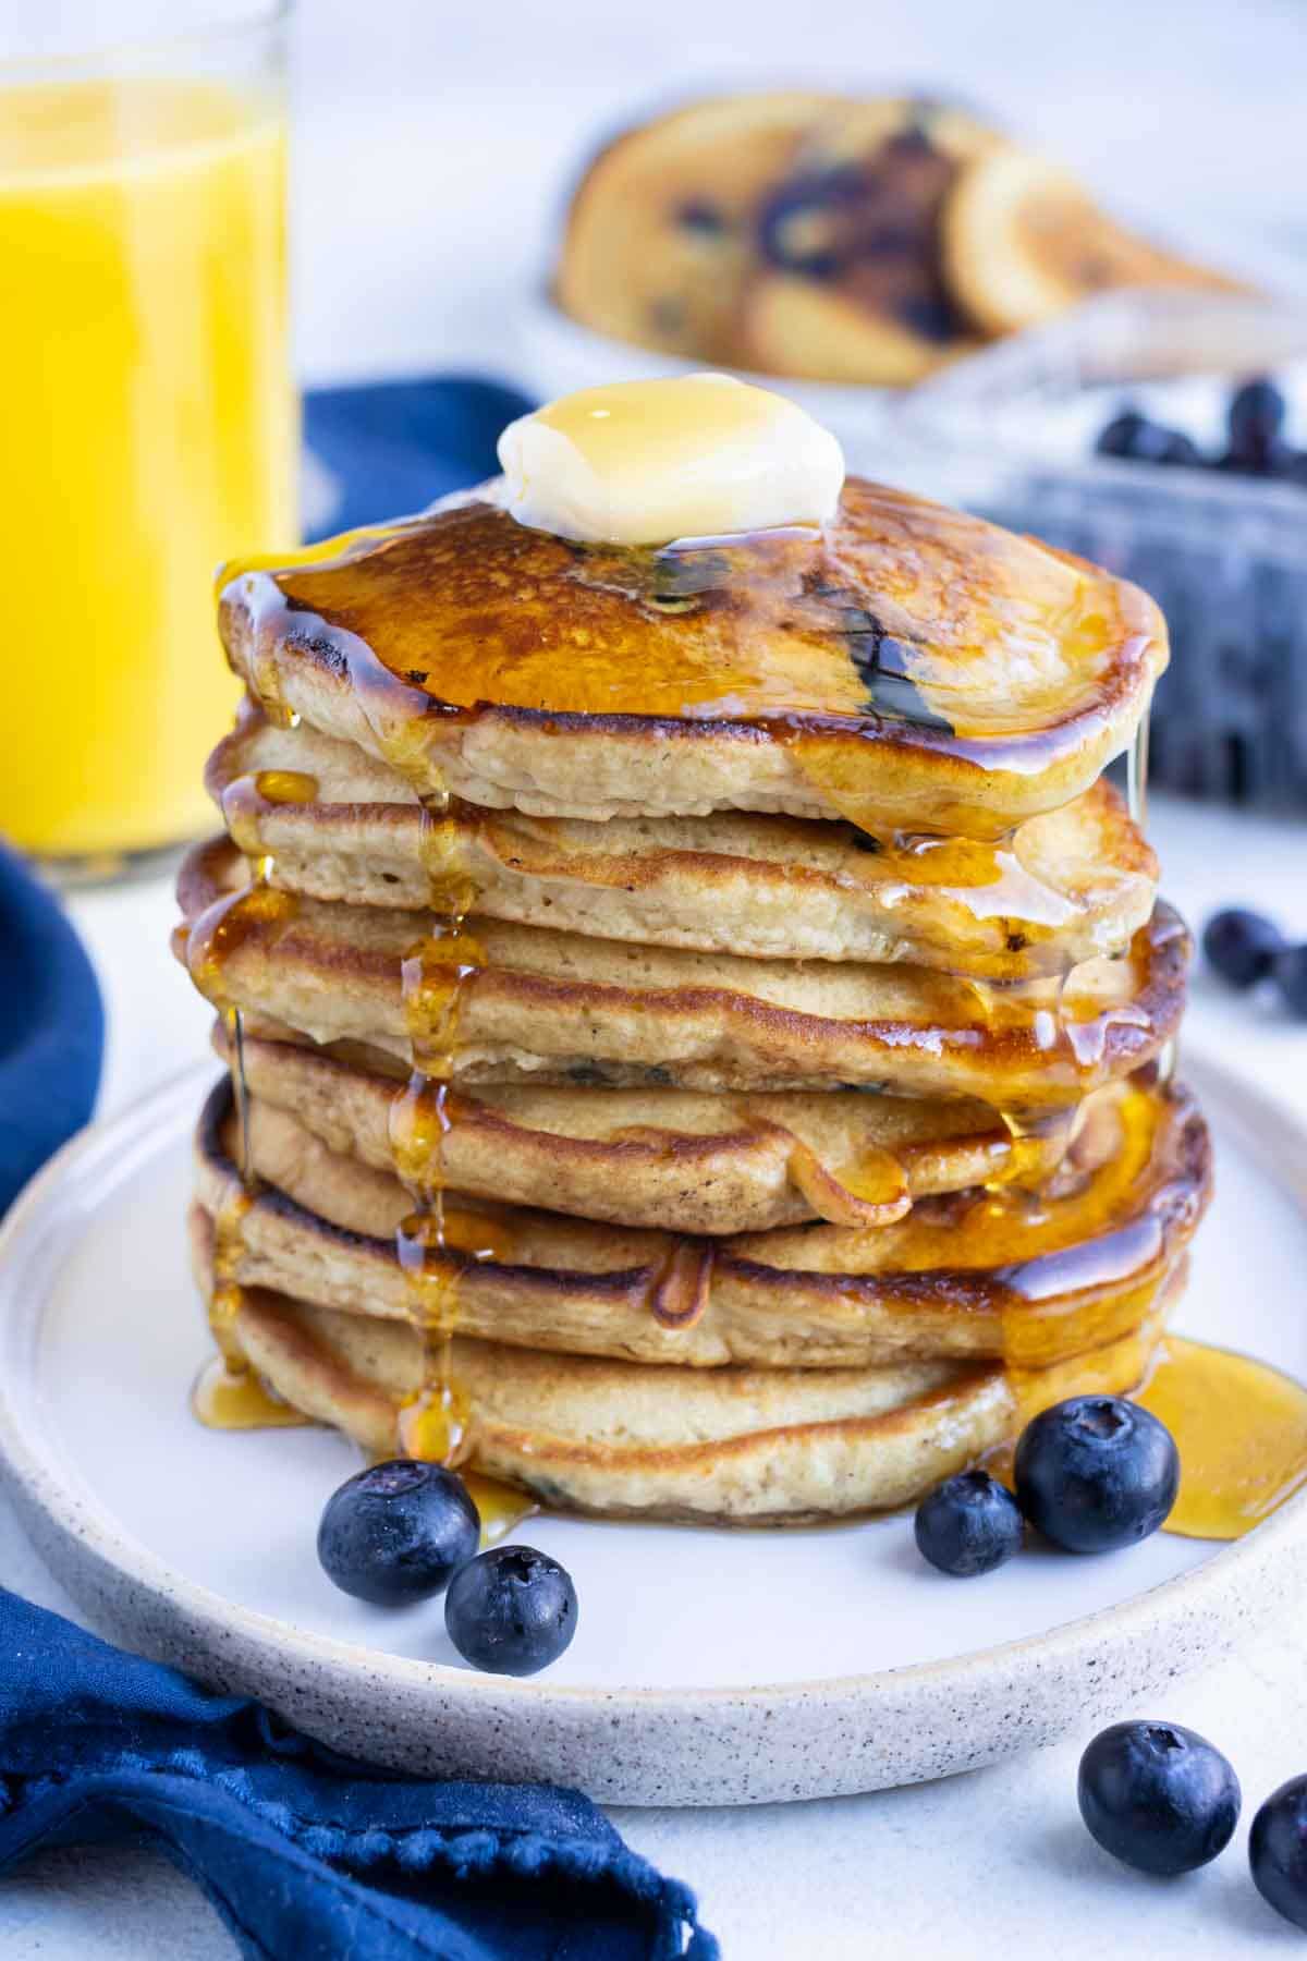
[[[470,375],[310,388],[304,441],[319,478],[310,478],[310,537],[402,518],[494,477],[500,429],[531,406]]]

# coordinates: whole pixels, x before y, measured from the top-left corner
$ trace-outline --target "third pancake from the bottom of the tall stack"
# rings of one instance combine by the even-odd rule
[[[216,1045],[225,1055],[221,1026]],[[249,1033],[243,1053],[251,1096],[327,1149],[396,1169],[390,1120],[404,1071],[396,1079],[384,1057],[378,1071]],[[1064,1143],[1060,1126],[1023,1141],[1023,1177],[1052,1171]],[[696,1090],[482,1086],[455,1100],[441,1143],[443,1177],[474,1198],[692,1233],[813,1218],[886,1224],[913,1198],[1003,1181],[1015,1157],[1009,1131],[982,1102],[860,1090],[723,1100]]]

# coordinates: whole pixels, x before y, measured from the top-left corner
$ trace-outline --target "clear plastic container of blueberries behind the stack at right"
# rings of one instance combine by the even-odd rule
[[[1307,810],[1307,484],[1093,453],[1133,400],[1211,457],[1233,384],[1260,373],[1276,375],[1287,437],[1307,451],[1305,355],[1307,314],[1291,304],[1113,296],[958,363],[903,404],[890,441],[854,437],[850,467],[1144,586],[1172,637],[1150,780]]]

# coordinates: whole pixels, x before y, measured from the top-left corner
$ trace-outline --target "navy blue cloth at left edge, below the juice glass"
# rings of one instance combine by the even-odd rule
[[[104,1008],[80,939],[43,884],[0,845],[0,1212],[88,1122]]]

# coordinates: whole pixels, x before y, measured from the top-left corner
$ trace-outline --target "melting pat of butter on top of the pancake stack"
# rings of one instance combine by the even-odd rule
[[[517,524],[666,545],[835,516],[845,457],[819,422],[731,375],[582,388],[500,437]]]

